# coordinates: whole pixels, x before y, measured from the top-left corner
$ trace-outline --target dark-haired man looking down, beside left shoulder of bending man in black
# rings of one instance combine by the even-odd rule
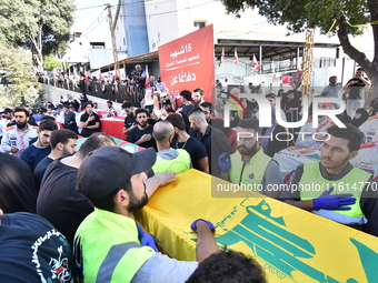
[[[50,138],[51,152],[39,162],[33,172],[37,190],[41,186],[42,178],[47,168],[61,156],[73,154],[77,151],[78,134],[68,129],[53,131]]]

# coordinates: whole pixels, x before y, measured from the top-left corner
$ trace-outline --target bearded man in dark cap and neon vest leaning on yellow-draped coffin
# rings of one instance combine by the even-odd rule
[[[98,149],[83,160],[76,186],[94,212],[80,224],[73,254],[84,282],[185,282],[197,269],[197,262],[159,253],[153,237],[132,218],[156,191],[145,173],[155,161],[152,149],[132,154],[116,146]],[[175,180],[173,173],[163,174],[170,178],[161,184]],[[197,220],[191,229],[198,232],[198,261],[218,251],[210,222]]]

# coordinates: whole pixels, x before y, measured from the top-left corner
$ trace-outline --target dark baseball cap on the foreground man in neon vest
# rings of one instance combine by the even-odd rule
[[[76,189],[91,201],[99,201],[129,180],[149,171],[156,161],[152,148],[130,153],[118,146],[102,146],[88,153],[76,178]]]

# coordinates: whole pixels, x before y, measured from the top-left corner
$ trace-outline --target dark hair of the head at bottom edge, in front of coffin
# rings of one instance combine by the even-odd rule
[[[265,271],[252,257],[235,251],[219,251],[198,264],[186,283],[266,283]]]

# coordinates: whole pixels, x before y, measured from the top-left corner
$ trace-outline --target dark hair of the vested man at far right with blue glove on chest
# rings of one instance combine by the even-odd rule
[[[331,125],[328,128],[327,132],[332,137],[348,140],[348,149],[350,152],[359,150],[359,146],[361,146],[364,141],[364,133],[352,124],[346,123],[345,125],[347,128]]]

